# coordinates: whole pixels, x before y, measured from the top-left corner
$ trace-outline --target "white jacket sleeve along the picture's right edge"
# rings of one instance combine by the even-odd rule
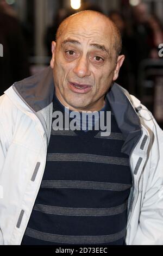
[[[153,121],[151,166],[132,245],[163,245],[163,131]]]

